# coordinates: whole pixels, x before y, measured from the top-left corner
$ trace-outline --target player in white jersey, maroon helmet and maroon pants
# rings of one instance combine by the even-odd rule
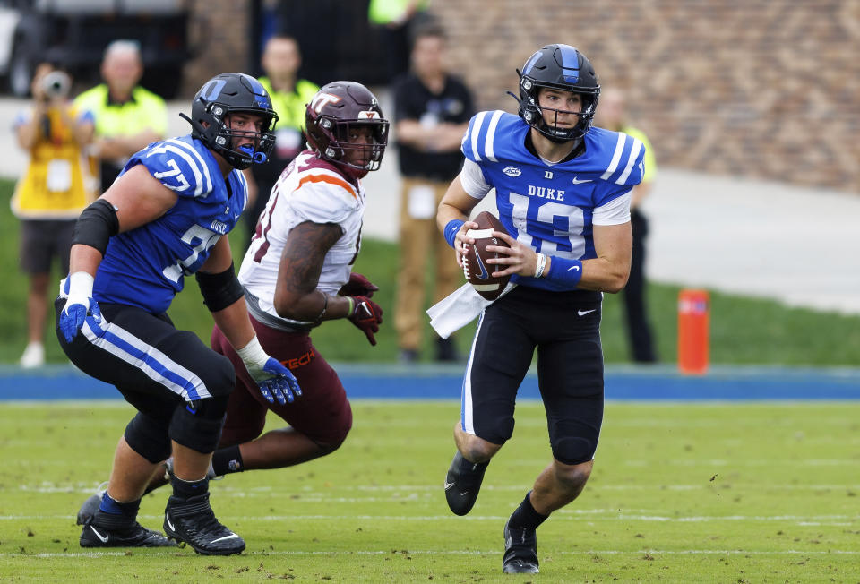
[[[340,447],[352,427],[346,391],[314,348],[310,331],[347,318],[376,344],[383,311],[370,297],[378,288],[351,267],[365,211],[360,179],[379,168],[388,127],[374,94],[356,82],[329,83],[308,104],[310,148],[273,187],[238,276],[262,348],[296,375],[304,391],[292,403],[262,394],[216,326],[211,346],[236,366],[236,389],[210,477],[324,456]],[[269,411],[288,426],[261,436]],[[163,475],[151,479],[150,490],[165,483]],[[97,495],[84,502],[79,521],[89,518],[96,502]]]

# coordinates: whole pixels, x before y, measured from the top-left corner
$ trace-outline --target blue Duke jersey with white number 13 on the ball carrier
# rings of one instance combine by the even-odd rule
[[[531,127],[501,110],[472,117],[461,150],[495,187],[499,220],[512,237],[538,253],[574,260],[597,257],[594,210],[630,192],[642,179],[642,142],[625,133],[591,128],[585,151],[547,164],[526,148]],[[563,290],[549,279],[518,275],[513,282]]]

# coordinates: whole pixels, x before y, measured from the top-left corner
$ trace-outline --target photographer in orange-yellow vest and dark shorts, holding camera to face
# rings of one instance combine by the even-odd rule
[[[25,368],[45,362],[51,262],[56,257],[60,273],[69,271],[75,219],[95,199],[95,178],[83,153],[92,141],[92,116],[68,101],[70,85],[67,74],[39,64],[30,86],[33,104],[14,122],[18,143],[30,152],[11,202],[13,214],[22,220],[22,271],[30,276],[28,344],[20,362]]]

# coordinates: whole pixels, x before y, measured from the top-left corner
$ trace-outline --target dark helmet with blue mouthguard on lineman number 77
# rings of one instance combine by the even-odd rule
[[[232,130],[225,119],[235,112],[262,117],[262,132]],[[275,145],[275,123],[278,115],[271,107],[269,93],[262,84],[245,73],[221,73],[203,83],[191,104],[191,117],[180,114],[191,123],[193,138],[218,152],[231,167],[244,169],[252,163],[269,159]],[[236,137],[253,138],[255,150],[234,148]]]

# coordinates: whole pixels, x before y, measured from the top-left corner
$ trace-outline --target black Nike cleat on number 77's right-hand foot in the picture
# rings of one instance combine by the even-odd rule
[[[241,554],[245,540],[220,524],[209,504],[209,493],[168,499],[164,510],[164,532],[177,542],[185,542],[198,554]]]

